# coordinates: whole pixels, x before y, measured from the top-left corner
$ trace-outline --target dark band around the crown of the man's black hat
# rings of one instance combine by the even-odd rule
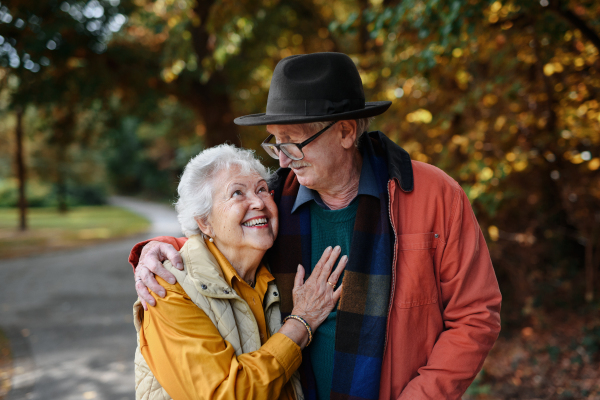
[[[341,101],[269,99],[267,101],[267,115],[333,115],[364,108],[365,99],[344,99]]]

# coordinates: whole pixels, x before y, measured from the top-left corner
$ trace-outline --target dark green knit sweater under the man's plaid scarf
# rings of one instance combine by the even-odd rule
[[[325,210],[319,207],[314,201],[310,203],[312,267],[317,264],[323,255],[323,251],[328,246],[335,247],[339,245],[342,248],[339,258],[343,255],[350,255],[350,244],[352,242],[352,232],[357,209],[358,201],[356,200],[341,210]],[[343,275],[338,280],[338,285],[342,283],[342,278]],[[308,347],[310,361],[315,373],[319,400],[329,399],[329,392],[331,391],[336,316],[337,308],[319,326],[314,334],[311,345]]]

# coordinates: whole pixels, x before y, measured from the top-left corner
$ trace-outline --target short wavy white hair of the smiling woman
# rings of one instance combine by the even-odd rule
[[[239,168],[241,173],[257,173],[269,181],[270,171],[258,161],[252,150],[221,144],[202,151],[185,166],[177,187],[179,198],[175,210],[185,236],[202,233],[196,219],[206,221],[210,216],[215,177],[232,167]]]

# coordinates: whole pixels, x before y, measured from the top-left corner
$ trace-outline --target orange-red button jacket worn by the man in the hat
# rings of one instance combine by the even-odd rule
[[[402,162],[398,149],[389,142]],[[396,251],[379,398],[459,399],[498,337],[502,296],[462,188],[434,166],[408,163],[412,171],[392,169],[388,183]],[[179,249],[186,239],[154,240]],[[133,248],[134,267],[146,243]]]

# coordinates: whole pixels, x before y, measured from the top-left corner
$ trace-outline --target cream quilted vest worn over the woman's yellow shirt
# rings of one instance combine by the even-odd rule
[[[164,266],[177,278],[177,282],[215,324],[224,340],[235,349],[235,354],[250,353],[260,348],[258,325],[248,304],[227,284],[217,260],[206,247],[201,236],[192,236],[180,251],[184,269],[174,268],[169,261]],[[265,320],[271,335],[281,328],[279,294],[277,286],[270,283],[265,294]],[[133,305],[133,321],[139,333],[144,318],[141,302]],[[135,351],[136,400],[170,400],[160,386],[140,351],[140,339]],[[199,361],[201,362],[201,361]],[[290,381],[297,400],[304,400],[298,371]]]

